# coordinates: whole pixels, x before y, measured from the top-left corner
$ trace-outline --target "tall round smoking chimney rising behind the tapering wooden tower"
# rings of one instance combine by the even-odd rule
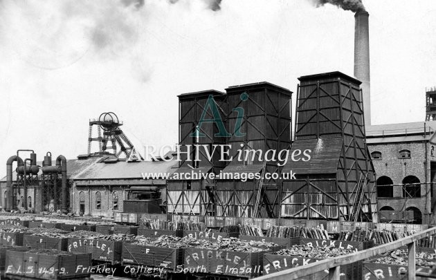
[[[366,11],[358,11],[354,18],[354,77],[362,82],[363,109],[365,126],[371,125],[371,93],[370,93],[370,31]]]

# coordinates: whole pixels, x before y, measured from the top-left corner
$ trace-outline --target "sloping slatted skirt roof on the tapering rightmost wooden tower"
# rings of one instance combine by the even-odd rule
[[[283,172],[292,170],[297,175],[336,173],[342,142],[342,138],[296,140],[292,144],[288,162],[284,166]],[[300,149],[302,152],[306,149],[311,150],[311,159],[308,161],[292,161],[291,154],[297,149]]]

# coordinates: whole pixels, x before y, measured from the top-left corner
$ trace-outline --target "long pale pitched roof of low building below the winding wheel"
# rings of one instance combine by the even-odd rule
[[[91,180],[91,179],[129,179],[143,178],[142,173],[170,173],[176,170],[174,167],[179,162],[170,161],[139,161],[116,163],[96,163],[83,169],[75,176],[73,180]]]

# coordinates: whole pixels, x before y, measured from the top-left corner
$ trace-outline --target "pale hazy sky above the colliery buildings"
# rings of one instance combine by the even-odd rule
[[[0,177],[17,149],[38,160],[87,153],[89,118],[103,112],[136,144],[175,144],[181,93],[262,81],[296,92],[301,75],[353,75],[354,13],[335,6],[223,0],[214,12],[205,0],[127,1],[0,0]],[[372,123],[425,120],[436,1],[364,3]]]

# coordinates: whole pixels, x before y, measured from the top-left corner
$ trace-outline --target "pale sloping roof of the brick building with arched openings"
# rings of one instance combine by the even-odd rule
[[[414,133],[435,131],[436,121],[432,122],[403,122],[399,124],[378,124],[365,127],[366,136],[406,136]]]

